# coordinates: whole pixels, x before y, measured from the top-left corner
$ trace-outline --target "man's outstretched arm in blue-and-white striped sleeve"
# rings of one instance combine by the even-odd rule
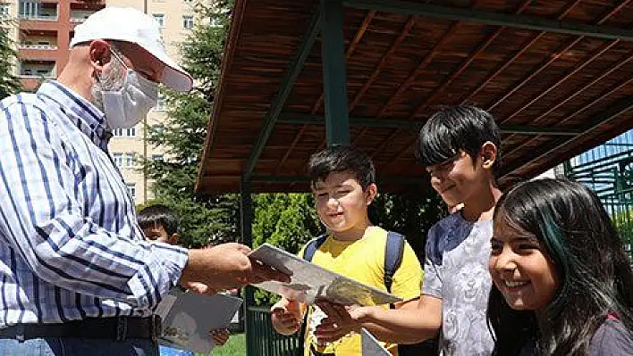
[[[131,240],[86,218],[72,154],[46,113],[23,103],[2,110],[0,240],[47,283],[140,308],[156,305],[181,278],[191,252]],[[196,265],[217,258],[217,253],[193,255],[205,256],[194,258]],[[238,269],[232,277],[242,278],[234,286],[249,283],[247,276],[258,269],[246,257],[229,266]],[[220,279],[218,286],[230,285]]]

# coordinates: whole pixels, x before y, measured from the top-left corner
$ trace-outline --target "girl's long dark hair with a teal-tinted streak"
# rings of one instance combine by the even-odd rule
[[[587,355],[610,313],[633,330],[629,257],[597,196],[566,179],[519,184],[502,196],[494,224],[525,231],[544,245],[561,286],[539,312],[512,310],[496,286],[488,300],[495,355],[519,354],[534,341],[541,355]]]

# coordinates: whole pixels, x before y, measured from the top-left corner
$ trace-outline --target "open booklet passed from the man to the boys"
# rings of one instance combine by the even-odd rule
[[[260,245],[249,257],[291,276],[290,283],[269,281],[254,285],[287,299],[312,304],[317,298],[322,298],[339,304],[361,306],[401,302],[401,298],[393,294],[316,266],[271,244]]]

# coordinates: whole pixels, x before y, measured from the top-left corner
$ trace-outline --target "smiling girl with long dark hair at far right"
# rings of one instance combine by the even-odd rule
[[[633,355],[633,274],[597,196],[519,184],[494,213],[488,323],[495,355]]]

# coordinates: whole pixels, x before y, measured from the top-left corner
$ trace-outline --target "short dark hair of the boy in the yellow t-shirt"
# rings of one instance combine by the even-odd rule
[[[324,180],[332,172],[350,171],[363,189],[376,182],[374,162],[357,147],[333,145],[310,156],[308,177],[310,186]]]

